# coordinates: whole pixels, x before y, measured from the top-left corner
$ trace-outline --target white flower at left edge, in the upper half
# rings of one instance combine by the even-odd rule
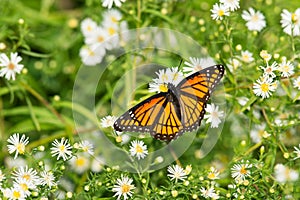
[[[7,80],[15,80],[16,73],[20,74],[23,69],[23,65],[19,64],[22,57],[18,56],[18,53],[10,53],[10,59],[6,54],[0,54],[0,77],[5,76]]]

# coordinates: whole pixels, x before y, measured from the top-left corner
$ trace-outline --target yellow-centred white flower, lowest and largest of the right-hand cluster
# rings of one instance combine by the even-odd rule
[[[273,82],[272,78],[261,77],[253,84],[253,92],[256,96],[261,96],[263,99],[269,98],[277,88],[277,81]]]

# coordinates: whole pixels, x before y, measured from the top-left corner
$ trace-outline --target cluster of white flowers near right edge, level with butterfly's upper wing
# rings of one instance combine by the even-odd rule
[[[294,74],[294,65],[292,62],[287,61],[285,57],[282,57],[281,63],[278,64],[274,61],[270,65],[269,61],[272,59],[272,55],[266,50],[262,50],[260,56],[265,61],[266,66],[261,66],[263,75],[253,84],[253,92],[264,99],[269,98],[272,92],[277,89],[278,81],[275,79],[277,76],[288,78]]]

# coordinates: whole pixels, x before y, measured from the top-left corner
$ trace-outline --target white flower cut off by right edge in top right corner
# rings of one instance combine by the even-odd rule
[[[300,35],[300,8],[297,8],[294,13],[283,9],[280,23],[285,33],[292,36]]]

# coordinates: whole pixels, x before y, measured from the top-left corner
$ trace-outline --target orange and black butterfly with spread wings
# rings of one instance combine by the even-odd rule
[[[157,93],[130,108],[114,123],[116,131],[150,133],[171,141],[200,126],[206,103],[224,75],[223,65],[195,72],[167,91]]]

